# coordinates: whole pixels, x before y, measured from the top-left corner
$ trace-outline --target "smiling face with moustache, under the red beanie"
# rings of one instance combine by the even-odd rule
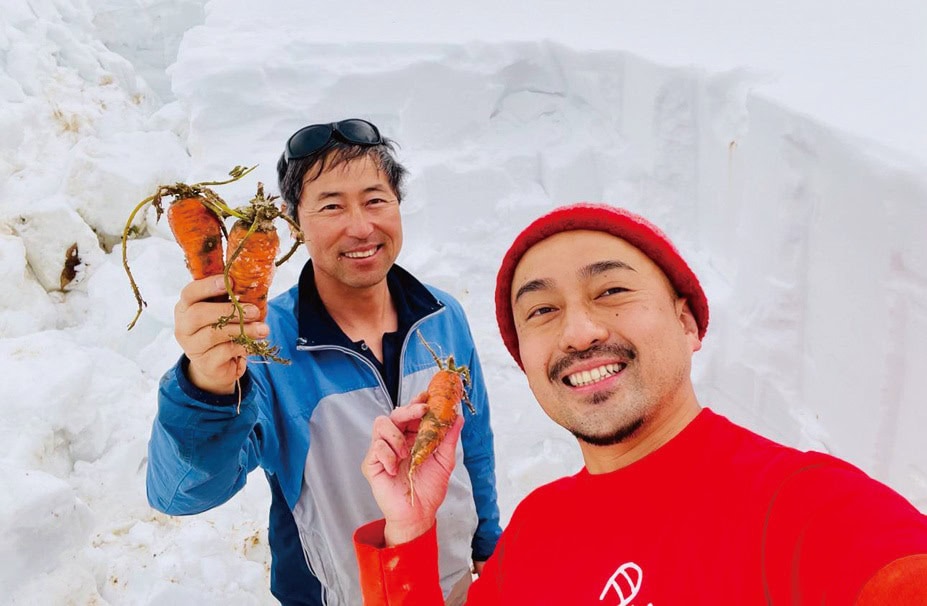
[[[512,309],[531,390],[581,444],[619,444],[697,407],[695,320],[624,240],[568,231],[537,243],[515,269]]]

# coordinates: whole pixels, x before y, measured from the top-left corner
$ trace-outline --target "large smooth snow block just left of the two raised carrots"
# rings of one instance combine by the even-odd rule
[[[188,162],[186,149],[170,132],[87,137],[74,146],[65,193],[101,241],[115,246],[132,209],[159,185],[183,181]]]

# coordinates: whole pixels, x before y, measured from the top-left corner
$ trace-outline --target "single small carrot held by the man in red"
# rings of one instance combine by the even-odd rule
[[[435,364],[438,365],[438,372],[428,383],[428,399],[425,402],[428,410],[422,417],[415,435],[415,442],[412,444],[409,463],[409,495],[413,505],[415,504],[415,488],[412,474],[434,453],[454,421],[457,420],[457,406],[460,401],[466,402],[471,414],[476,414],[476,409],[464,390],[464,386],[470,383],[470,369],[463,365],[457,366],[454,363],[454,356],[441,360],[422,337],[422,333],[417,334],[434,358]]]

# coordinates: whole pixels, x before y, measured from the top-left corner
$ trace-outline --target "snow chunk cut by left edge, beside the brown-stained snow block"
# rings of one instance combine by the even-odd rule
[[[18,337],[55,327],[55,308],[26,261],[22,238],[0,228],[0,335]]]

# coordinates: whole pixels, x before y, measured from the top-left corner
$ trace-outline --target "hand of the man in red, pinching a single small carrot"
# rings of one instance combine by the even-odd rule
[[[361,471],[386,518],[384,536],[388,545],[410,541],[434,525],[456,462],[462,416],[458,416],[433,456],[416,469],[415,502],[412,503],[409,498],[410,455],[418,426],[427,410],[426,399],[427,394],[422,393],[410,404],[395,409],[389,417],[378,417],[362,463]]]

